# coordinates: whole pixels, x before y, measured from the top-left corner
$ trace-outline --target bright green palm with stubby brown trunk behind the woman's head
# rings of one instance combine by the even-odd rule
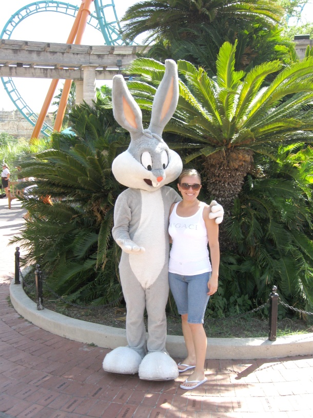
[[[213,78],[203,68],[178,61],[180,99],[165,128],[192,149],[185,163],[202,157],[208,191],[228,210],[247,173],[258,169],[253,155],[275,159],[281,143],[313,141],[313,110],[307,107],[313,99],[312,57],[285,67],[278,60],[266,62],[246,74],[234,70],[236,46],[223,44]],[[144,82],[129,82],[129,87],[139,105],[150,111],[164,65],[137,59],[128,70],[142,76]],[[265,86],[269,75],[276,77]]]

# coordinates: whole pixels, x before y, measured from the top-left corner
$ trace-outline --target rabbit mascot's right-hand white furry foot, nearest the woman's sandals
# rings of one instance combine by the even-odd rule
[[[178,375],[176,362],[161,351],[147,354],[139,367],[139,377],[143,380],[173,380]]]

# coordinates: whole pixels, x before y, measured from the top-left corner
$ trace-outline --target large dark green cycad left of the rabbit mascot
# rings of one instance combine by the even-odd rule
[[[111,164],[129,140],[112,133],[112,111],[102,101],[76,107],[70,120],[75,135],[54,133],[51,149],[21,163],[23,175],[35,177],[36,186],[32,197],[24,198],[31,217],[15,242],[22,240],[29,251],[27,263],[42,265],[46,283],[57,294],[103,304],[121,296],[119,247],[111,228],[122,188]]]

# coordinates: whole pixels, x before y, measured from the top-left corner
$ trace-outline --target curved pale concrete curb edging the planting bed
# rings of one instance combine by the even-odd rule
[[[52,334],[98,347],[114,349],[126,346],[126,331],[111,326],[69,318],[44,309],[25,294],[22,284],[10,284],[10,297],[15,311],[34,325]],[[207,359],[282,358],[313,354],[313,333],[266,338],[208,338]],[[184,358],[186,348],[181,336],[168,335],[166,348],[171,357]]]

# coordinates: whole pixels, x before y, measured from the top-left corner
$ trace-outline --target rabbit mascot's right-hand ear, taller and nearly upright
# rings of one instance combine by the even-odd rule
[[[179,98],[177,64],[173,60],[165,61],[165,74],[155,93],[149,130],[162,136],[165,125],[175,112]]]

